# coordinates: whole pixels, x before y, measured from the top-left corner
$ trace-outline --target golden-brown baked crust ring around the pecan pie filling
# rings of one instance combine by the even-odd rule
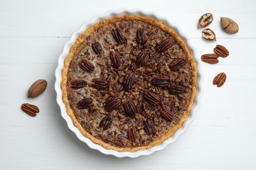
[[[192,66],[192,93],[191,93],[191,97],[190,97],[190,103],[188,104],[186,112],[184,112],[184,115],[182,116],[179,123],[176,126],[169,129],[169,131],[167,132],[166,135],[161,136],[160,139],[148,144],[147,146],[138,146],[138,147],[134,147],[134,148],[120,148],[117,146],[112,146],[110,144],[104,143],[100,139],[96,139],[95,137],[93,137],[93,135],[91,135],[87,131],[85,131],[85,129],[81,126],[81,124],[79,124],[79,122],[77,122],[74,112],[70,108],[70,103],[68,102],[68,92],[67,92],[67,88],[66,88],[66,83],[67,83],[66,75],[68,73],[70,61],[72,61],[73,56],[75,56],[75,52],[81,50],[81,49],[79,49],[79,48],[81,48],[81,43],[83,43],[83,41],[85,40],[85,38],[88,35],[90,35],[91,33],[93,33],[93,31],[98,29],[98,27],[102,27],[103,25],[106,25],[109,23],[118,22],[120,20],[140,20],[142,22],[146,22],[148,24],[155,25],[156,27],[159,27],[163,31],[169,33],[171,35],[171,37],[173,37],[173,39],[175,39],[175,41],[177,41],[177,44],[179,44],[181,46],[182,50],[184,50],[184,54],[186,55],[186,57],[188,58],[188,61],[190,61],[191,66]],[[160,22],[151,17],[139,16],[139,15],[117,16],[117,17],[113,17],[113,18],[108,18],[106,20],[102,20],[100,22],[97,22],[95,25],[92,25],[91,27],[87,27],[87,29],[85,29],[85,31],[81,35],[79,35],[79,37],[77,37],[77,39],[75,40],[75,43],[70,48],[70,52],[69,52],[68,56],[66,56],[66,59],[64,61],[64,67],[62,69],[62,82],[61,82],[62,100],[66,107],[66,112],[68,113],[70,118],[72,118],[73,124],[79,129],[79,131],[81,132],[82,135],[84,135],[85,137],[87,137],[88,139],[93,141],[93,143],[100,144],[101,146],[103,146],[106,149],[113,149],[113,150],[117,150],[120,152],[123,152],[123,151],[135,152],[137,150],[146,150],[148,148],[151,148],[152,146],[158,146],[159,144],[163,143],[163,141],[165,141],[166,139],[169,139],[171,136],[173,136],[175,131],[177,131],[182,126],[184,121],[188,118],[188,116],[190,114],[190,110],[192,109],[194,97],[196,95],[196,81],[197,81],[196,62],[194,61],[192,54],[190,54],[190,51],[188,50],[186,43],[181,39],[181,37],[179,37],[179,35],[177,35],[177,33],[175,33],[175,31],[173,31],[173,29],[167,27],[167,25],[165,25],[163,22]]]

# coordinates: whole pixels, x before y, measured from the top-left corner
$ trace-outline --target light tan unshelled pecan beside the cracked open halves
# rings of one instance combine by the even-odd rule
[[[238,24],[234,20],[226,17],[221,17],[221,27],[226,33],[238,33],[239,31]]]

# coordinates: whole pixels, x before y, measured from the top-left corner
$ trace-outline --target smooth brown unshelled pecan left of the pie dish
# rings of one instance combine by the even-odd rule
[[[47,81],[39,79],[35,81],[28,89],[28,97],[37,97],[47,88]]]

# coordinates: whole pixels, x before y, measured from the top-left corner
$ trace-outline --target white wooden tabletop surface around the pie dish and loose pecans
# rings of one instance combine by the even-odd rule
[[[152,10],[178,25],[196,48],[195,58],[216,44],[230,50],[217,65],[202,63],[202,105],[186,133],[160,152],[139,158],[115,158],[92,150],[75,137],[60,116],[54,70],[64,43],[79,26],[106,10]],[[198,19],[215,16],[209,28],[217,42],[205,42]],[[230,17],[240,32],[228,35],[220,17]],[[256,169],[256,1],[0,1],[0,169]],[[225,72],[226,83],[212,80]],[[35,99],[27,90],[48,81]],[[20,109],[38,105],[35,117]]]

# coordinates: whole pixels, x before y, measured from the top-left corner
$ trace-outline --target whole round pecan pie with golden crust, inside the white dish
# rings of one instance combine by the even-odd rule
[[[182,126],[196,76],[194,58],[173,29],[150,17],[117,16],[77,37],[62,69],[62,98],[81,134],[134,152]]]

